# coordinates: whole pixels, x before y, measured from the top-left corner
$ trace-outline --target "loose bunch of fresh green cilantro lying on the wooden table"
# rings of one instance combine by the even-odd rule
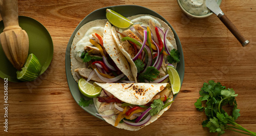
[[[218,132],[218,135],[225,133],[226,129],[240,132],[248,135],[256,135],[255,132],[249,131],[236,123],[237,118],[240,116],[237,107],[236,96],[232,88],[222,86],[220,82],[215,83],[210,80],[204,83],[199,92],[200,96],[195,103],[199,111],[205,111],[207,120],[203,121],[203,127],[208,127],[210,132]],[[206,101],[205,106],[202,102]],[[232,115],[229,116],[227,112],[222,109],[222,106],[229,104],[233,106]]]

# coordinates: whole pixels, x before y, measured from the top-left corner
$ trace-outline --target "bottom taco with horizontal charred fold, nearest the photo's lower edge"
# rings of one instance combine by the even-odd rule
[[[157,120],[173,102],[168,83],[97,83],[102,87],[94,105],[109,124],[139,130]]]

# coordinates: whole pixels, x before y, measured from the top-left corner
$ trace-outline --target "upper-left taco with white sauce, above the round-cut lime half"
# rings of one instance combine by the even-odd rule
[[[97,82],[134,81],[130,64],[120,52],[106,19],[90,21],[75,34],[71,45],[71,73]]]

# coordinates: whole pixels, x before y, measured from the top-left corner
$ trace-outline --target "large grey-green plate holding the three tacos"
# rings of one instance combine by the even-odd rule
[[[137,14],[151,14],[153,16],[156,16],[160,19],[162,19],[163,21],[166,22],[166,24],[169,25],[170,28],[172,28],[172,31],[174,33],[175,39],[176,39],[176,43],[177,43],[177,48],[180,52],[180,63],[178,63],[177,65],[177,71],[179,73],[180,76],[180,80],[181,80],[181,84],[183,82],[183,78],[184,78],[184,57],[183,57],[183,51],[182,51],[182,47],[181,47],[181,43],[180,43],[180,39],[177,35],[177,33],[174,31],[173,27],[170,26],[170,24],[168,23],[168,21],[166,19],[164,19],[161,15],[159,15],[158,13],[156,13],[155,11],[152,11],[150,9],[141,7],[141,6],[136,6],[136,5],[122,5],[122,6],[111,6],[111,7],[105,7],[105,8],[101,8],[98,10],[93,11],[92,13],[90,13],[88,16],[86,16],[85,18],[83,18],[83,20],[78,24],[78,26],[76,27],[75,31],[73,32],[73,34],[70,37],[70,40],[68,42],[68,46],[66,49],[66,56],[65,56],[65,64],[66,64],[66,75],[67,75],[67,80],[68,80],[68,84],[69,84],[69,88],[70,88],[70,92],[72,94],[72,96],[74,97],[75,101],[78,103],[80,101],[80,98],[84,98],[86,100],[90,99],[87,97],[84,97],[79,89],[78,89],[78,84],[77,82],[73,79],[73,76],[71,74],[71,70],[70,70],[70,49],[71,49],[71,44],[73,41],[73,38],[76,34],[76,32],[79,30],[80,27],[82,27],[84,24],[86,24],[89,21],[92,20],[96,20],[96,19],[106,19],[105,17],[105,11],[106,9],[112,9],[118,13],[120,13],[121,15],[125,16],[125,17],[129,17],[132,15],[137,15]],[[176,94],[174,96],[174,98],[177,96],[178,94]],[[87,112],[89,112],[91,115],[102,119],[101,117],[95,115],[95,113],[97,113],[97,110],[95,109],[94,105],[90,105],[88,107],[82,107],[84,110],[86,110]],[[103,120],[103,119],[102,119]]]

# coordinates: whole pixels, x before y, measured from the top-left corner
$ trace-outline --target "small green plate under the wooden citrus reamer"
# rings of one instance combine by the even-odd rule
[[[53,42],[51,35],[47,29],[37,20],[27,17],[18,17],[19,26],[25,30],[29,36],[29,54],[33,53],[42,65],[42,73],[46,71],[52,61],[53,56]],[[4,30],[3,20],[0,22],[0,33]],[[1,43],[0,43],[1,44]],[[0,47],[0,77],[8,78],[11,82],[23,82],[16,78],[16,69],[5,56],[5,53]]]

